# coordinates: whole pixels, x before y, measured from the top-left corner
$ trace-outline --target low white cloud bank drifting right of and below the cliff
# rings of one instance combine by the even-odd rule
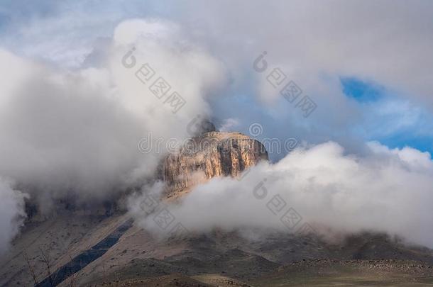
[[[371,142],[368,154],[356,157],[327,142],[299,149],[276,164],[253,167],[240,180],[212,179],[168,210],[191,231],[271,227],[296,232],[309,223],[318,232],[329,227],[336,232],[388,232],[433,247],[432,186],[428,153],[408,147],[389,150]],[[145,194],[160,188],[145,188]],[[135,203],[131,210],[143,227],[166,232],[154,216],[145,217],[143,203],[141,208],[140,201]],[[299,223],[280,220],[285,213],[299,215]]]

